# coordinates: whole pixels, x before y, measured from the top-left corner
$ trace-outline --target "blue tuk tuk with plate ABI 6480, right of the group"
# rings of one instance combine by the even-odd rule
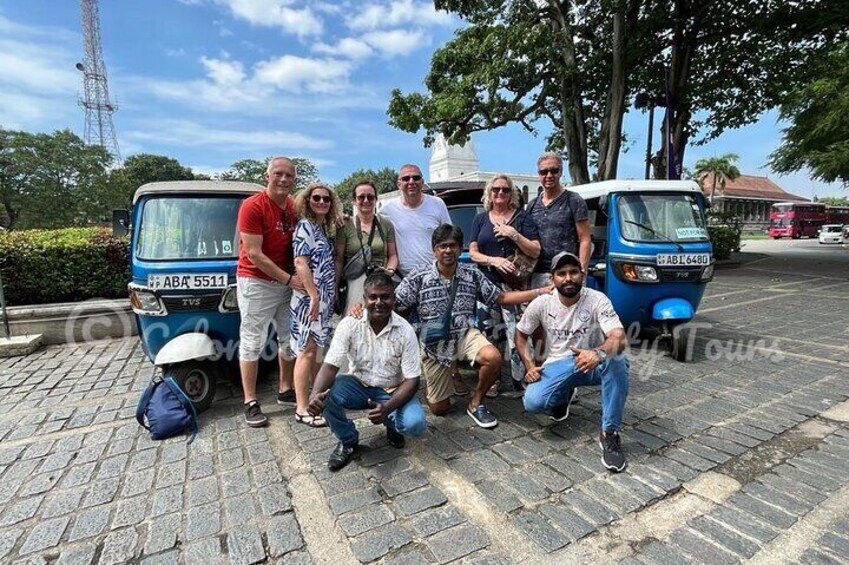
[[[707,200],[692,181],[614,180],[571,187],[589,210],[588,284],[603,291],[622,323],[660,330],[678,361],[692,359],[687,324],[713,278]]]

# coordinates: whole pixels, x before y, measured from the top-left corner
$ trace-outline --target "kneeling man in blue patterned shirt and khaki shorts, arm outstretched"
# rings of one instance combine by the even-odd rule
[[[431,412],[444,416],[454,394],[451,364],[468,361],[479,367],[478,382],[466,412],[482,428],[498,425],[498,419],[483,403],[484,394],[501,371],[501,353],[472,327],[476,302],[522,304],[550,292],[551,287],[528,291],[501,292],[476,267],[458,262],[463,232],[450,224],[433,231],[431,246],[436,261],[404,277],[395,290],[395,308],[415,311],[421,320],[422,369]],[[453,295],[453,297],[452,297]],[[428,329],[444,326],[442,339],[427,338]],[[439,333],[439,331],[435,332]]]

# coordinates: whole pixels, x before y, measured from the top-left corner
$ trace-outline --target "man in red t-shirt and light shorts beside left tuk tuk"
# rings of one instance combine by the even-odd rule
[[[277,402],[295,402],[292,369],[295,360],[289,349],[289,303],[292,289],[303,290],[292,259],[295,231],[295,165],[286,157],[268,163],[265,190],[242,203],[239,209],[239,266],[236,269],[239,311],[239,367],[245,393],[245,421],[251,427],[268,424],[256,398],[259,354],[265,345],[268,324],[277,329],[280,382]]]

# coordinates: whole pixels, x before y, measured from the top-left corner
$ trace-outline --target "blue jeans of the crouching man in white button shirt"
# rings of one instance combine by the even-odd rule
[[[354,422],[345,415],[345,410],[365,410],[368,401],[386,402],[392,395],[376,386],[365,386],[351,375],[337,375],[330,394],[324,400],[324,419],[330,431],[345,446],[355,445],[360,434]],[[424,435],[426,423],[421,402],[413,396],[406,404],[391,412],[386,418],[387,427],[407,437]]]

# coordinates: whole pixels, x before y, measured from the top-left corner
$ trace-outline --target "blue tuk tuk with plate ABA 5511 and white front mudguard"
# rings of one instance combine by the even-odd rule
[[[132,216],[130,303],[145,354],[174,377],[198,411],[215,397],[224,363],[238,358],[236,220],[263,190],[244,182],[143,185]],[[119,211],[121,212],[121,211]]]

